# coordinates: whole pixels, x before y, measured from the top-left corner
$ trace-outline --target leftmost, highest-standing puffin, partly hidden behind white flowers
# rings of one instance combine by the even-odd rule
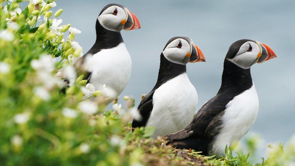
[[[106,105],[124,90],[131,75],[131,57],[121,30],[141,28],[138,18],[125,6],[106,5],[96,20],[96,41],[92,48],[74,63],[79,75],[95,90],[109,89]]]

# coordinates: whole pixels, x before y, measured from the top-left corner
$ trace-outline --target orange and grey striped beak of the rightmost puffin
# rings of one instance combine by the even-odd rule
[[[262,63],[264,61],[277,57],[274,51],[270,47],[268,47],[266,44],[260,43],[258,41],[257,41],[257,44],[260,48],[260,53],[257,56],[258,58],[257,63]]]

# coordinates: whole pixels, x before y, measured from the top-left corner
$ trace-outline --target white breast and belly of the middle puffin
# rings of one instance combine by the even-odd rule
[[[153,96],[147,126],[155,126],[153,138],[184,129],[193,119],[198,103],[195,87],[183,73],[160,86]]]

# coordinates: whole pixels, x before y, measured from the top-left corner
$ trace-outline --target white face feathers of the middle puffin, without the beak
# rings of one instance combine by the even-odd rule
[[[181,41],[182,47],[178,48],[177,45]],[[191,44],[189,44],[186,40],[182,38],[178,38],[170,42],[165,50],[163,51],[164,56],[167,58],[167,60],[186,65],[186,63],[189,62],[189,58],[185,60],[185,56],[187,53],[190,53],[191,51]]]

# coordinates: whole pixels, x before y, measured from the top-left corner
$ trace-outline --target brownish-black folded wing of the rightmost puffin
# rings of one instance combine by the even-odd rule
[[[199,137],[204,137],[205,131],[207,127],[213,127],[216,125],[215,122],[219,122],[218,120],[213,121],[218,115],[221,115],[225,110],[226,104],[231,100],[230,96],[218,94],[212,99],[210,99],[207,103],[205,103],[202,108],[197,112],[196,116],[193,118],[192,122],[183,130],[168,134],[165,137],[167,139],[172,140],[180,140],[188,138],[192,135],[197,135]],[[206,133],[210,134],[210,133]]]

